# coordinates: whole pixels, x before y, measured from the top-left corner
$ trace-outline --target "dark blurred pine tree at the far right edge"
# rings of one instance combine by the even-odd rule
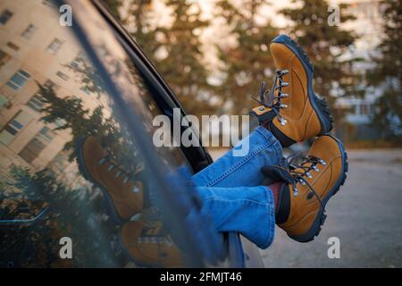
[[[402,141],[402,3],[388,0],[383,5],[383,40],[377,47],[375,69],[368,74],[369,83],[381,86],[373,127],[386,139]]]

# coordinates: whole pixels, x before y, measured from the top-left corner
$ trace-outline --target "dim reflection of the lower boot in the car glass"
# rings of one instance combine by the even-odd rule
[[[120,233],[124,254],[145,267],[183,267],[179,248],[162,225],[147,226],[141,222],[124,223]]]

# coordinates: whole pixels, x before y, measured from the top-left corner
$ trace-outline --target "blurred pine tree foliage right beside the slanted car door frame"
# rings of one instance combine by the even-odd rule
[[[172,26],[155,26],[151,19],[153,3],[152,0],[130,0],[129,10],[123,16],[119,13],[123,4],[120,0],[106,1],[109,9],[155,63],[188,114],[214,112],[214,106],[209,104],[214,87],[207,81],[209,71],[202,63],[204,55],[198,34],[199,29],[204,29],[209,23],[200,20],[199,9],[192,10],[197,4],[166,0],[163,3],[172,9]],[[167,56],[157,56],[161,51]]]

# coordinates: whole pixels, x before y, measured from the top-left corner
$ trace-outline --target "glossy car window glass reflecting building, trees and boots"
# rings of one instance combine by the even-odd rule
[[[43,1],[2,1],[0,11],[15,22],[0,25],[0,267],[182,266],[147,162],[71,30]],[[27,27],[35,37],[21,37]],[[125,99],[152,136],[161,111],[138,70],[96,48],[113,80],[130,83]],[[158,152],[171,168],[186,164],[177,148]],[[64,237],[73,259],[61,255]]]

